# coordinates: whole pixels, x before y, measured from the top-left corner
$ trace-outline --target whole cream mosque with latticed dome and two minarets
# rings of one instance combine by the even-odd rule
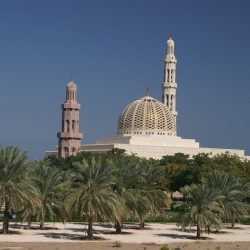
[[[167,53],[164,60],[162,83],[162,101],[146,96],[130,103],[121,112],[117,133],[97,140],[96,144],[82,144],[83,134],[79,132],[80,104],[77,102],[77,86],[71,81],[66,87],[66,100],[62,104],[62,126],[57,134],[58,147],[47,151],[46,155],[68,157],[77,152],[103,153],[114,148],[124,149],[127,154],[139,157],[161,159],[165,155],[184,153],[190,155],[210,153],[212,155],[229,152],[239,157],[245,156],[244,150],[203,148],[194,139],[177,136],[176,122],[176,64],[174,41],[167,41]]]

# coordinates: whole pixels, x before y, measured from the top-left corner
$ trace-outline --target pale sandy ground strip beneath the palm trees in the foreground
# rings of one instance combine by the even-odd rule
[[[197,241],[195,229],[182,232],[175,224],[150,223],[145,230],[126,224],[120,235],[114,233],[111,224],[95,224],[95,236],[100,238],[97,242],[84,240],[86,225],[82,223],[68,223],[65,226],[62,223],[46,224],[51,227],[47,230],[39,230],[37,224],[33,226],[34,229],[27,230],[25,225],[11,225],[11,234],[0,234],[0,250],[114,249],[115,241],[120,242],[120,249],[160,249],[163,244],[168,244],[170,249],[179,247],[186,250],[250,249],[250,226],[246,225],[236,225],[236,229],[225,225],[221,233],[203,234],[203,239]]]

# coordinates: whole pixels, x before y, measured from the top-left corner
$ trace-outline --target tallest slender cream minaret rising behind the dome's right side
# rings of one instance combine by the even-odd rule
[[[174,41],[167,41],[167,55],[164,60],[164,77],[162,85],[162,101],[171,111],[176,123],[176,63]]]

